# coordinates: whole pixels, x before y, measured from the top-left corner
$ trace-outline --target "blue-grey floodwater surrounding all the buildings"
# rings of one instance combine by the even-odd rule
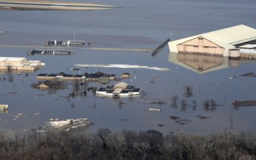
[[[230,128],[233,132],[256,132],[256,107],[232,108],[231,104],[232,100],[255,100],[255,77],[239,75],[256,72],[256,61],[230,62],[227,58],[186,57],[170,53],[168,47],[154,57],[151,52],[79,47],[72,48],[74,54],[70,56],[26,55],[27,51],[34,49],[32,46],[44,47],[45,41],[50,39],[72,40],[74,33],[76,40],[90,41],[90,47],[155,49],[168,37],[174,40],[239,24],[256,28],[255,0],[98,0],[92,3],[122,8],[95,11],[0,11],[0,31],[4,31],[0,33],[0,56],[26,57],[46,63],[45,67],[28,76],[25,76],[26,73],[0,74],[0,104],[9,106],[8,113],[0,113],[1,129],[29,131],[45,125],[54,117],[59,120],[90,118],[93,122],[90,132],[100,127],[108,127],[113,131],[156,129],[164,134],[210,134],[230,131]],[[40,73],[56,74],[63,71],[78,74],[71,70],[76,64],[145,65],[170,68],[170,71],[79,67],[81,73],[100,70],[119,76],[130,72],[132,77],[124,82],[143,88],[143,93],[140,97],[120,100],[96,97],[93,92],[87,92],[86,96],[78,94],[83,92],[83,86],[77,88],[73,82],[68,82],[67,88],[56,91],[41,91],[31,87],[31,84],[37,83],[36,75]],[[212,67],[201,67],[200,72],[196,71],[196,67],[198,69],[202,64]],[[110,84],[115,83],[112,81]],[[108,84],[87,85],[100,87]],[[184,88],[189,88],[189,93],[185,93]],[[76,92],[76,97],[69,97],[70,92]],[[177,105],[173,104],[175,96]],[[217,106],[204,108],[205,100],[214,100]],[[149,108],[161,111],[149,111]],[[23,115],[15,118],[18,113]],[[176,120],[170,116],[176,117]]]

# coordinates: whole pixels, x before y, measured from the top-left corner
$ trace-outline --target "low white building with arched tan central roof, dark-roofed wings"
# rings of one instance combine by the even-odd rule
[[[100,87],[96,91],[97,95],[106,96],[106,97],[132,97],[138,96],[142,88],[135,88],[135,86],[128,86],[127,83],[120,82],[116,83],[115,86],[107,86],[106,88]]]

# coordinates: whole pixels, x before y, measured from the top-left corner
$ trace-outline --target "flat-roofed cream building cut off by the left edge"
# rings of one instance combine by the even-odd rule
[[[0,70],[34,71],[42,65],[41,61],[29,61],[26,58],[0,57]]]

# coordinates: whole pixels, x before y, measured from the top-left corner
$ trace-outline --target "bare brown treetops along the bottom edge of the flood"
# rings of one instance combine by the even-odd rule
[[[255,159],[256,136],[163,135],[149,130],[99,129],[23,133],[0,131],[0,159]]]

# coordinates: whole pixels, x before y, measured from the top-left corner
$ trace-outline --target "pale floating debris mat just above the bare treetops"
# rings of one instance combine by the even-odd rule
[[[67,120],[57,120],[49,122],[50,127],[61,129],[64,131],[70,131],[70,129],[83,128],[91,125],[92,122],[88,118],[76,118]]]

